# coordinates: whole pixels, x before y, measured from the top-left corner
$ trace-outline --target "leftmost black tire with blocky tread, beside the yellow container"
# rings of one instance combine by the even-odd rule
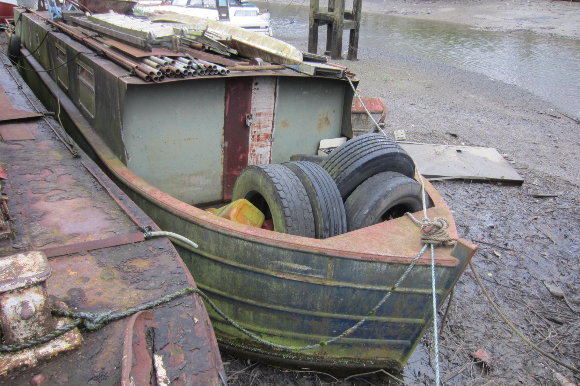
[[[314,237],[310,200],[296,174],[282,165],[251,165],[235,180],[232,201],[245,198],[272,219],[274,231]]]

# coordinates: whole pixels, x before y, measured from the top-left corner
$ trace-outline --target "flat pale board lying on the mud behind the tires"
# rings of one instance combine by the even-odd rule
[[[524,182],[494,148],[409,142],[399,144],[427,178],[503,181],[515,185]]]

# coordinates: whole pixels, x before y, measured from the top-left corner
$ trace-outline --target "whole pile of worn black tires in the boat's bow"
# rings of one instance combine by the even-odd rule
[[[248,166],[234,185],[232,200],[252,202],[277,232],[328,238],[422,207],[411,156],[380,134],[358,136],[325,158],[291,160]]]

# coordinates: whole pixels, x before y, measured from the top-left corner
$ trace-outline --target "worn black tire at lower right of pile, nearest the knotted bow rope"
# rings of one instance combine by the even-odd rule
[[[345,202],[349,232],[422,209],[421,184],[396,172],[375,174]]]

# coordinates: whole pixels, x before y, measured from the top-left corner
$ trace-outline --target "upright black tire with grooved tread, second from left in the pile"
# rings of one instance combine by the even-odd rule
[[[314,217],[314,236],[325,239],[346,232],[346,213],[334,180],[322,166],[314,162],[285,162],[298,176],[310,199]]]

